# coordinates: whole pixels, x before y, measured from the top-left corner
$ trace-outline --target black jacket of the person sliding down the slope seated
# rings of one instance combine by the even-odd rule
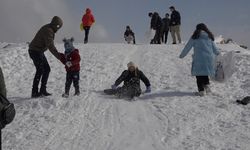
[[[142,80],[146,87],[150,86],[148,78],[144,75],[142,71],[138,69],[136,69],[136,73],[130,72],[128,70],[123,71],[121,76],[115,81],[115,86],[118,86],[122,82],[124,82],[124,85],[126,85],[134,77]]]

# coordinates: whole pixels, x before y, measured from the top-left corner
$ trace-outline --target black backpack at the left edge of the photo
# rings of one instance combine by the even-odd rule
[[[7,124],[10,124],[16,115],[16,110],[13,103],[0,94],[0,129],[3,129]]]

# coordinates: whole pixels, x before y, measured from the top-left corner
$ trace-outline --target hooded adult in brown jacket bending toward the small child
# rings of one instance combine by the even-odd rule
[[[54,45],[54,37],[55,33],[62,27],[62,25],[62,19],[58,16],[54,16],[51,23],[41,27],[41,29],[37,32],[34,39],[29,45],[29,55],[36,67],[36,74],[33,80],[31,94],[31,97],[33,98],[51,95],[51,93],[48,93],[46,90],[47,81],[50,73],[50,66],[48,64],[47,58],[44,55],[44,52],[49,49],[49,51],[57,59],[61,59],[61,55]],[[39,92],[38,85],[40,80],[41,88]]]

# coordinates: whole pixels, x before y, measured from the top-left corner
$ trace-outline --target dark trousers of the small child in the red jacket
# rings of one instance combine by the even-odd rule
[[[67,72],[66,75],[66,83],[65,83],[65,93],[69,94],[70,86],[73,82],[73,85],[75,87],[75,92],[79,92],[79,71],[77,72]]]

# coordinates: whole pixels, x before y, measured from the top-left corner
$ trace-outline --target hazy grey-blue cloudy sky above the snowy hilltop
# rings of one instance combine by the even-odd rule
[[[5,0],[0,2],[0,42],[28,42],[37,30],[49,23],[55,15],[60,16],[64,25],[56,35],[59,42],[73,36],[83,42],[84,32],[79,29],[82,15],[87,7],[92,9],[96,23],[90,31],[91,42],[124,42],[126,25],[135,32],[138,43],[145,42],[149,30],[148,12],[159,12],[164,16],[170,6],[175,6],[182,17],[181,36],[189,39],[196,24],[204,22],[215,36],[232,38],[239,44],[247,45],[250,39],[250,1],[247,0]],[[169,43],[172,38],[169,35]]]

